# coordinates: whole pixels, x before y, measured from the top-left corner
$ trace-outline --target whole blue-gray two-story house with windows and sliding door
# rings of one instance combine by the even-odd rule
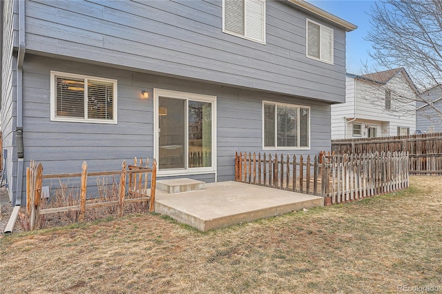
[[[215,182],[234,179],[236,151],[331,146],[356,26],[305,1],[1,4],[1,131],[16,204],[31,159],[66,173],[84,160],[97,171],[155,157],[160,178]]]

